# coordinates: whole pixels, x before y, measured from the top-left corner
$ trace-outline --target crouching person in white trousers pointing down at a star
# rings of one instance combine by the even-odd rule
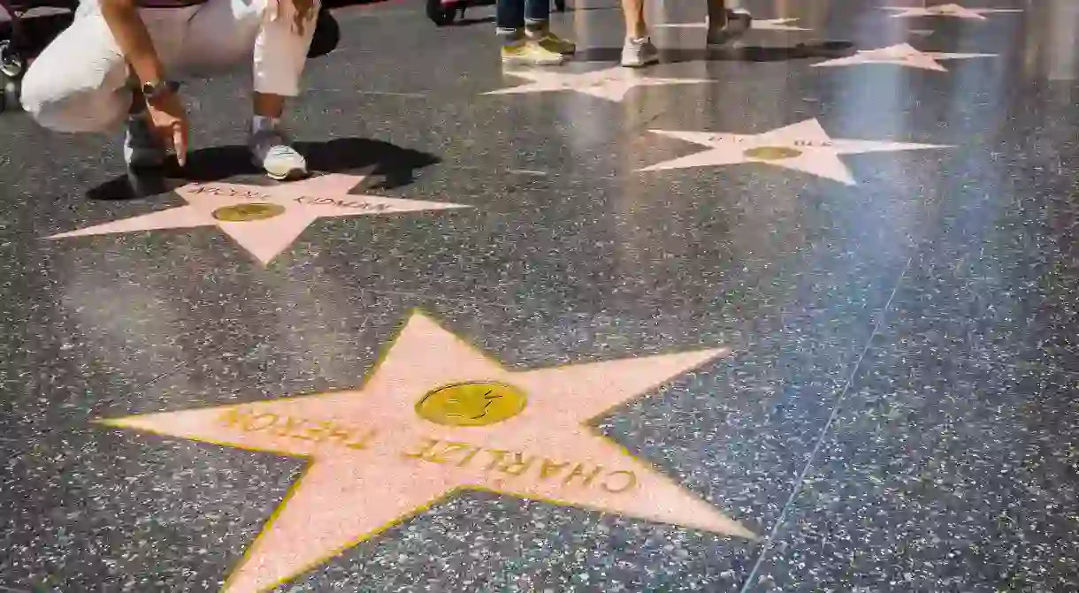
[[[101,133],[123,124],[131,167],[185,164],[180,81],[250,65],[249,148],[274,179],[306,175],[285,136],[285,100],[299,94],[319,0],[83,0],[74,23],[30,65],[23,107],[42,126]]]

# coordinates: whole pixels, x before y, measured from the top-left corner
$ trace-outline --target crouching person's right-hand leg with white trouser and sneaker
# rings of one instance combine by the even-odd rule
[[[286,100],[300,93],[318,10],[318,0],[209,0],[186,31],[182,68],[192,75],[231,70],[254,56],[250,149],[274,179],[306,175],[281,118]]]

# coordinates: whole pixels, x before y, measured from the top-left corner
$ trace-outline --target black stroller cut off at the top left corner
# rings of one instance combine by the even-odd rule
[[[78,0],[0,0],[0,8],[11,17],[6,38],[0,39],[0,112],[18,109],[19,81],[26,71],[27,59],[40,51],[59,31],[44,35],[41,27],[27,27],[26,13],[41,8],[74,12]],[[36,18],[29,20],[38,20]],[[70,15],[66,22],[70,22]],[[53,19],[55,28],[55,19]],[[66,26],[66,25],[65,25]],[[40,39],[44,35],[47,39]]]

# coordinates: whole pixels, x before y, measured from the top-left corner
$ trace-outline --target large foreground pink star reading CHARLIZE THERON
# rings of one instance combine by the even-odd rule
[[[459,489],[753,539],[589,428],[725,348],[510,371],[415,313],[361,388],[100,420],[308,457],[226,582],[273,589]]]

